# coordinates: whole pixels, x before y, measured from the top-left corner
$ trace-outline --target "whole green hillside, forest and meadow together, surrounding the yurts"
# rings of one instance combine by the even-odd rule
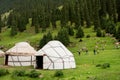
[[[119,3],[120,0],[0,0],[0,49],[7,51],[17,42],[27,41],[39,50],[52,36],[73,53],[76,61],[75,69],[60,70],[62,77],[55,77],[57,70],[36,69],[42,77],[30,78],[28,73],[34,70],[33,66],[4,66],[4,57],[0,57],[0,80],[120,80],[120,44],[118,48],[115,45],[120,41]],[[9,74],[2,76],[2,69]],[[16,70],[26,75],[16,76]]]

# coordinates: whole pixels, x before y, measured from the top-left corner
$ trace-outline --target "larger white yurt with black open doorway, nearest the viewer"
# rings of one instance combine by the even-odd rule
[[[73,54],[60,41],[48,42],[35,56],[37,69],[76,68]]]

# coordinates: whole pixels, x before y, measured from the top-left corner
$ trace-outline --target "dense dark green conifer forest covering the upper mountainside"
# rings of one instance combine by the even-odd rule
[[[0,32],[7,26],[14,36],[26,30],[32,19],[31,27],[35,27],[37,34],[39,28],[45,31],[50,24],[56,28],[59,20],[61,28],[80,30],[94,26],[94,31],[104,30],[120,40],[120,26],[116,26],[120,21],[119,4],[120,0],[0,0],[1,15],[11,10],[6,21],[0,19]]]

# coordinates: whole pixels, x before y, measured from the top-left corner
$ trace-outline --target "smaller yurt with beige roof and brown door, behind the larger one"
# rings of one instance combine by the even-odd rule
[[[30,66],[34,65],[36,50],[27,42],[16,43],[5,53],[5,65]]]

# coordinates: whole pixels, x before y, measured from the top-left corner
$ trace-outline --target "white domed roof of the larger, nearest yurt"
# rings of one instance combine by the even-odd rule
[[[73,54],[60,42],[57,40],[49,41],[42,49],[40,49],[36,56],[50,56],[50,57],[69,57]]]

